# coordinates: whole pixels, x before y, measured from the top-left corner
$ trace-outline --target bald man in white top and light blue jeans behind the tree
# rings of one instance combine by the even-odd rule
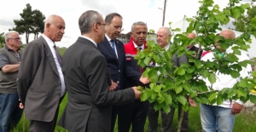
[[[236,38],[236,35],[234,32],[230,30],[225,30],[219,34],[219,36],[224,37],[225,39],[234,39]],[[217,49],[219,49],[221,52],[218,53],[220,57],[224,57],[226,54],[232,53],[232,49],[221,49],[220,44],[216,44]],[[210,52],[204,57],[201,58],[201,60],[207,61],[213,61],[214,55],[216,53]],[[241,55],[236,55],[238,57],[238,61],[242,60],[249,60],[246,54],[241,52]],[[247,65],[247,67],[241,67],[240,77],[248,77],[250,72],[252,71],[251,66]],[[210,88],[212,85],[212,89],[221,90],[224,88],[233,88],[235,83],[239,80],[239,78],[233,78],[230,75],[223,74],[220,72],[216,72],[215,75],[218,79],[215,83],[211,84],[207,79],[204,79],[204,81],[207,83],[207,87]],[[231,132],[234,127],[235,123],[235,115],[239,112],[241,112],[243,102],[241,100],[224,100],[223,104],[218,105],[207,105],[207,104],[201,104],[200,105],[200,113],[201,113],[201,125],[202,125],[202,131],[203,132]]]

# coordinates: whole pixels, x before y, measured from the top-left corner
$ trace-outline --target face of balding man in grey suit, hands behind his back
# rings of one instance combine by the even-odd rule
[[[64,20],[56,16],[53,24],[47,24],[47,30],[49,30],[49,38],[53,42],[61,41],[63,34],[65,33],[65,22]]]

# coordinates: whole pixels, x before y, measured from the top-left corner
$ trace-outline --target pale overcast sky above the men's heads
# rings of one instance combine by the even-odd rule
[[[248,0],[244,0],[248,1]],[[214,0],[220,8],[224,8],[229,0]],[[109,13],[117,12],[123,16],[123,33],[131,31],[136,21],[144,21],[148,29],[157,31],[162,24],[164,0],[5,0],[0,8],[0,33],[8,32],[15,27],[14,20],[20,20],[20,13],[30,3],[33,9],[39,9],[47,18],[50,14],[60,15],[66,22],[66,30],[59,47],[69,47],[80,36],[79,16],[86,10],[99,11],[103,18]],[[186,15],[196,14],[200,4],[198,0],[167,0],[165,26],[169,22],[177,23]],[[180,27],[182,28],[182,27]],[[22,43],[26,43],[25,35],[21,35]],[[33,39],[30,36],[29,42]]]

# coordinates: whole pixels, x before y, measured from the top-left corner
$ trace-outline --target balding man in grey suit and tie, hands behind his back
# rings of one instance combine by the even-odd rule
[[[61,98],[65,95],[61,56],[55,42],[61,41],[64,30],[64,20],[50,15],[45,20],[44,34],[24,49],[17,85],[30,131],[53,132],[55,129]]]

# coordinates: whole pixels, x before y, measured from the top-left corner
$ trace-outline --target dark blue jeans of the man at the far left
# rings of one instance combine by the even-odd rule
[[[22,116],[18,94],[0,93],[0,131],[9,132],[15,127]]]

